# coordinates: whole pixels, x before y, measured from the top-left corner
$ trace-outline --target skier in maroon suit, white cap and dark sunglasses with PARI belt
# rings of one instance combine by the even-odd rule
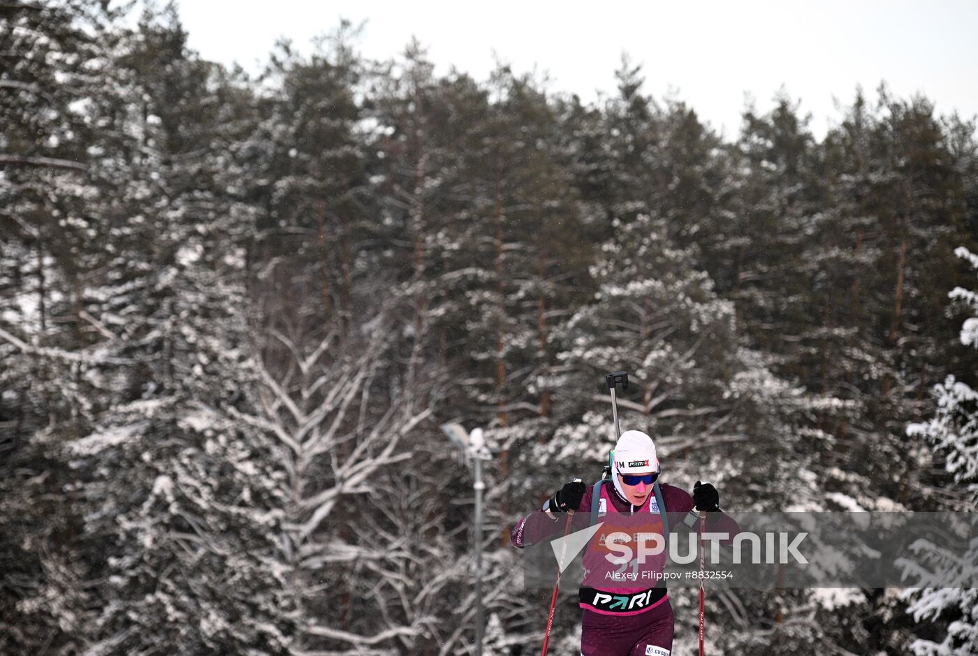
[[[512,530],[512,545],[526,547],[551,537],[562,525],[560,513],[573,510],[578,517],[590,518],[597,504],[594,516],[600,517],[601,527],[585,547],[584,581],[578,593],[584,609],[582,656],[669,656],[674,622],[662,579],[666,549],[664,541],[656,542],[668,534],[668,519],[681,521],[695,508],[708,513],[710,532],[733,538],[739,530],[720,510],[720,496],[712,485],[697,481],[690,496],[658,483],[660,473],[652,439],[638,430],[625,431],[611,461],[613,485],[607,480],[589,486],[567,483]],[[695,522],[697,529],[698,525]],[[646,538],[652,540],[650,548],[645,548]],[[631,557],[636,552],[639,555]]]

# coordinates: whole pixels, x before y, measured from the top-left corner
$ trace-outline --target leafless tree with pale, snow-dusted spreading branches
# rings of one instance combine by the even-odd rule
[[[388,485],[414,456],[406,438],[432,412],[412,367],[398,371],[405,368],[393,354],[392,322],[389,309],[360,331],[338,319],[325,331],[275,322],[265,335],[256,410],[240,414],[280,447],[289,518],[281,543],[301,631],[295,653],[389,653],[391,640],[410,641],[431,622],[409,599],[387,613],[389,597],[376,593],[415,557],[404,534],[381,528],[378,517],[399,521],[395,502],[403,498]],[[360,611],[365,604],[374,619]]]

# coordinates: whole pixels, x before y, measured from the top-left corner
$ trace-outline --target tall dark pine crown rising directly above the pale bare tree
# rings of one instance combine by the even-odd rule
[[[252,261],[284,267],[289,280],[292,267],[314,270],[320,318],[339,313],[346,321],[353,320],[353,266],[369,211],[354,36],[342,22],[308,58],[280,42],[255,90],[257,124],[240,147],[246,197],[261,209]]]

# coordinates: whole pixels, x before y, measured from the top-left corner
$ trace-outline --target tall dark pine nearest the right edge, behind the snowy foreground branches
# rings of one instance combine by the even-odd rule
[[[908,445],[905,426],[924,411],[926,390],[938,379],[934,372],[948,364],[940,344],[950,331],[931,321],[944,309],[947,283],[932,275],[932,263],[950,258],[956,239],[969,239],[960,228],[965,207],[957,200],[966,181],[926,99],[897,100],[883,88],[875,114],[869,161],[876,170],[863,193],[873,217],[864,247],[875,248],[876,257],[867,272],[873,291],[863,295],[867,316],[857,342],[875,372],[859,385],[871,427],[853,426],[862,439],[856,435],[851,453],[855,468],[888,479],[879,486],[888,496],[933,508],[941,503],[943,482],[930,480],[930,468],[920,466],[927,450]]]

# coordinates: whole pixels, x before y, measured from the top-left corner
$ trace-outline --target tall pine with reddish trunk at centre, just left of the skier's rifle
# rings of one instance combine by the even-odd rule
[[[527,493],[539,492],[537,472],[525,475],[512,455],[553,433],[551,415],[562,401],[541,385],[556,365],[551,333],[587,298],[593,252],[568,174],[572,147],[561,106],[546,81],[500,65],[489,89],[491,106],[472,126],[475,147],[467,153],[476,172],[468,212],[478,220],[457,221],[452,233],[461,256],[455,266],[478,277],[468,276],[462,306],[442,320],[454,322],[455,334],[465,328],[467,349],[450,364],[468,376],[459,392],[469,425],[489,426],[487,439],[500,450],[486,471],[487,548],[509,544],[514,513]],[[533,617],[532,600],[505,585],[516,555],[504,549],[487,562],[484,602],[508,629]]]

